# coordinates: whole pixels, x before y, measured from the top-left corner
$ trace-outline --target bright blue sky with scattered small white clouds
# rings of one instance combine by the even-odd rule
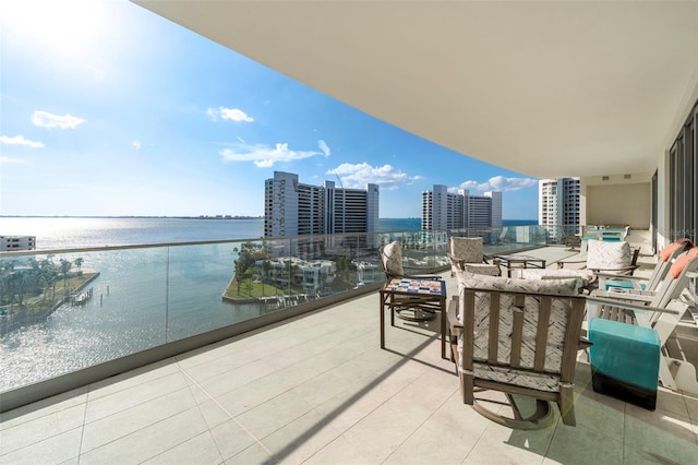
[[[258,216],[278,170],[310,184],[377,183],[384,218],[419,217],[434,184],[498,190],[505,219],[538,218],[537,179],[392,127],[125,0],[73,3],[2,3],[0,215]]]

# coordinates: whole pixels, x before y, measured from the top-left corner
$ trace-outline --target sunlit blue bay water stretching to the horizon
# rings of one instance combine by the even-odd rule
[[[382,220],[382,230],[420,227],[419,218]],[[37,250],[58,251],[256,239],[264,235],[264,220],[0,217],[0,235],[36,236]],[[84,272],[99,272],[85,288],[93,297],[0,334],[0,392],[257,317],[265,311],[258,303],[221,300],[234,273],[236,246],[57,253],[55,262],[81,258]]]

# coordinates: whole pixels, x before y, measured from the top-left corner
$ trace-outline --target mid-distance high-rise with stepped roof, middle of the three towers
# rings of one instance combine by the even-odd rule
[[[502,226],[502,192],[470,195],[470,191],[461,189],[452,193],[442,184],[422,192],[424,230],[498,226]]]

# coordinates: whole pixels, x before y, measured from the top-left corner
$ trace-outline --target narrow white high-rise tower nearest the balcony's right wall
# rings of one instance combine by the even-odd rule
[[[566,234],[579,228],[579,178],[538,181],[538,224],[546,226],[551,239],[558,239],[562,226]]]

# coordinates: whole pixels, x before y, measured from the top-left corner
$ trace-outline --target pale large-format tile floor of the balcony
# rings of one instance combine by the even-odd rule
[[[377,308],[371,294],[8,412],[0,463],[698,461],[696,396],[661,390],[645,410],[594,393],[580,362],[577,427],[510,430],[462,404],[438,320],[388,327],[382,350]]]

